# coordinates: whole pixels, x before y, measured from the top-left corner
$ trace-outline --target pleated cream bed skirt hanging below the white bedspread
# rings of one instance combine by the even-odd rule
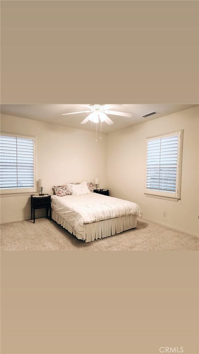
[[[52,209],[51,217],[64,229],[76,236],[79,240],[85,242],[94,241],[115,234],[120,234],[125,230],[135,228],[137,226],[136,215],[120,216],[118,218],[93,222],[92,224],[84,224],[83,232],[78,232],[72,224],[60,216]]]

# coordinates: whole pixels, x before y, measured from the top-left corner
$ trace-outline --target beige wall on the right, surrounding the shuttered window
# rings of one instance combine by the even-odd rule
[[[184,129],[181,200],[144,195],[146,138]],[[198,107],[132,126],[107,137],[107,186],[110,195],[140,205],[143,218],[198,233],[199,215]],[[163,212],[166,212],[166,217]]]

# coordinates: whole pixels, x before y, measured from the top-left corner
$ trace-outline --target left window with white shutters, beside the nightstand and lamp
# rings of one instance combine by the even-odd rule
[[[35,192],[35,137],[0,134],[0,192]]]

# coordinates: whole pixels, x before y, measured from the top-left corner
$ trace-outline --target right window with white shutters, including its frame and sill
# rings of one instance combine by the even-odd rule
[[[147,138],[146,195],[180,199],[182,139],[183,130]]]

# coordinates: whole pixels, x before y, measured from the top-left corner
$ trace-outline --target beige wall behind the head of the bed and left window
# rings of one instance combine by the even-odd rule
[[[106,135],[96,142],[94,132],[9,115],[1,115],[1,131],[36,136],[36,181],[45,179],[44,193],[53,194],[53,185],[93,182],[94,177],[100,188],[107,187]],[[0,202],[1,222],[30,218],[29,196],[1,196]]]

